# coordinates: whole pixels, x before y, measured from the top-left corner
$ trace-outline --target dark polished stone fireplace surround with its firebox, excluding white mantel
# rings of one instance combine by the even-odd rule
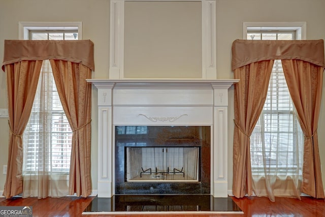
[[[116,126],[115,194],[210,194],[210,126]]]

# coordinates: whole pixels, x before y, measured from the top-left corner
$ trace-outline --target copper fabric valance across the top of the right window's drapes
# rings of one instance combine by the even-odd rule
[[[268,59],[300,59],[325,67],[321,40],[240,40],[233,42],[232,71]]]

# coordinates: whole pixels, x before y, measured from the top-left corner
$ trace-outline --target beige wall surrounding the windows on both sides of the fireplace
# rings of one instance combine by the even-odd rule
[[[325,1],[323,0],[216,0],[217,78],[232,79],[231,46],[243,37],[243,22],[306,21],[307,39],[325,39]],[[18,39],[19,21],[81,21],[83,39],[95,45],[93,78],[108,78],[109,71],[109,0],[0,0],[0,60],[3,59],[5,39]],[[325,85],[324,85],[325,86]],[[325,89],[325,87],[323,87]],[[232,189],[233,148],[233,88],[230,89],[228,135],[228,189]],[[97,189],[97,92],[92,97],[92,186]],[[325,103],[321,104],[318,139],[321,165],[325,166]],[[7,108],[6,76],[0,72],[0,108]],[[0,191],[4,189],[3,165],[7,164],[8,119],[0,118]],[[325,180],[325,171],[322,175]],[[325,181],[323,181],[325,183]],[[325,185],[324,185],[325,186]]]

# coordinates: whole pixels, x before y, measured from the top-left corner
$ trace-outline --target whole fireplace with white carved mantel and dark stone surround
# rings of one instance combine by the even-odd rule
[[[87,81],[98,94],[98,197],[228,197],[228,89],[238,80]]]

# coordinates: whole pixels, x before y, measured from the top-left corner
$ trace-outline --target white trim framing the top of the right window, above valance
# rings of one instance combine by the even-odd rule
[[[289,30],[295,31],[296,40],[306,40],[306,22],[243,22],[243,39],[249,30]]]

